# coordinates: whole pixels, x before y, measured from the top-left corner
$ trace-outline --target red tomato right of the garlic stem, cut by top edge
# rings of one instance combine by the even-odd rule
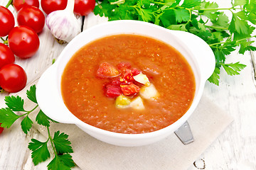
[[[95,0],[75,0],[74,13],[87,16],[95,8]]]

